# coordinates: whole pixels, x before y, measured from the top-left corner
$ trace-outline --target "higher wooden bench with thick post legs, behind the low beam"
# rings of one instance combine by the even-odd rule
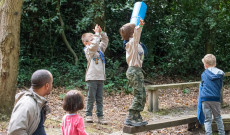
[[[230,72],[226,72],[225,76],[230,76]],[[187,82],[187,83],[174,83],[174,84],[162,84],[162,85],[147,85],[145,88],[148,93],[148,111],[156,112],[158,111],[158,90],[159,89],[169,89],[169,88],[190,88],[199,87],[200,81],[198,82]],[[223,95],[223,90],[221,91]],[[222,96],[223,97],[223,96]],[[223,103],[223,98],[221,98]]]

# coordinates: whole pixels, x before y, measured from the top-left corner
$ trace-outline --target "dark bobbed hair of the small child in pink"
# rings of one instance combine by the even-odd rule
[[[63,109],[69,113],[74,113],[82,110],[83,108],[84,96],[81,94],[81,92],[77,90],[70,90],[67,92],[64,98]]]

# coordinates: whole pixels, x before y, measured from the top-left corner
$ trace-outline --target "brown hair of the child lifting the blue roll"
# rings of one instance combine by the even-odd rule
[[[133,37],[135,27],[136,24],[134,23],[126,23],[123,25],[119,30],[122,40],[129,40],[129,38]]]

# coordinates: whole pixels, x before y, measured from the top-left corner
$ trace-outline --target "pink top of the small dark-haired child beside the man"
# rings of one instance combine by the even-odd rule
[[[67,114],[62,119],[63,135],[87,135],[83,118],[77,114]]]

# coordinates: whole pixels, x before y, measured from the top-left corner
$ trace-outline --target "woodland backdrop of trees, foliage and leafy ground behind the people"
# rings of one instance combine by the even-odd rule
[[[200,81],[204,70],[201,59],[207,53],[217,57],[218,68],[230,71],[230,0],[143,1],[148,6],[141,36],[141,42],[148,48],[143,64],[146,82]],[[130,21],[135,2],[0,0],[0,134],[7,130],[9,117],[6,120],[5,115],[11,114],[15,93],[30,86],[31,74],[37,69],[48,69],[54,76],[54,90],[48,96],[54,111],[48,116],[46,128],[52,132],[57,129],[57,134],[61,133],[61,118],[65,114],[61,105],[66,90],[83,89],[86,96],[84,77],[87,61],[81,35],[93,32],[96,24],[107,32],[110,40],[105,52],[107,80],[104,106],[106,119],[113,123],[108,127],[89,124],[86,130],[89,133],[90,130],[94,133],[95,129],[99,133],[112,133],[114,129],[121,131],[132,100],[132,95],[126,93],[132,89],[127,87],[127,64],[119,28]],[[224,102],[229,104],[229,85],[224,89]],[[162,110],[158,113],[163,112],[164,117],[174,118],[188,112],[196,114],[198,88],[169,89],[160,91],[159,95]],[[228,106],[223,113],[229,114],[229,110]],[[83,116],[84,111],[80,113]],[[158,117],[158,114],[146,111],[142,115],[150,121]],[[190,134],[181,127],[147,134],[177,134],[178,131]]]

